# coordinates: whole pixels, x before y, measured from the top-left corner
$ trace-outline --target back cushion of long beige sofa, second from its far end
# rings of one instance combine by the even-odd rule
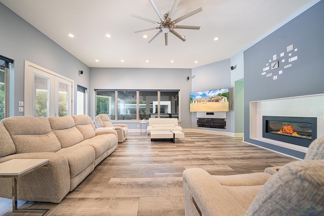
[[[49,117],[48,119],[62,148],[73,146],[84,140],[81,132],[75,127],[72,116]]]

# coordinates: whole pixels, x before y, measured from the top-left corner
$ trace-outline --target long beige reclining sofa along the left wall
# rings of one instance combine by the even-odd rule
[[[59,203],[117,148],[117,132],[95,131],[88,115],[16,116],[0,122],[0,163],[48,158],[50,163],[18,179],[18,199]],[[0,197],[12,197],[12,181],[0,178]]]

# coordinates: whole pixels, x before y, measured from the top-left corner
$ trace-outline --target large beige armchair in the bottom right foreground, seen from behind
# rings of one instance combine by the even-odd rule
[[[304,160],[266,172],[212,176],[199,168],[183,172],[186,216],[300,215],[324,209],[324,137]],[[300,213],[302,212],[302,213]]]

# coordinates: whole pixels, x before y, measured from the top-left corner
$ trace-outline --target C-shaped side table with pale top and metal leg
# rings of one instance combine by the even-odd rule
[[[44,166],[49,159],[12,159],[0,163],[0,178],[12,178],[12,212],[13,213],[43,213],[46,215],[50,209],[18,209],[17,205],[17,179],[29,172]]]

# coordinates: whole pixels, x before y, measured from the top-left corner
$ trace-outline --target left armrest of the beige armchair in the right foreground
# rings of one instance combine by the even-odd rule
[[[185,214],[244,215],[245,209],[217,180],[205,170],[190,168],[183,171]]]

